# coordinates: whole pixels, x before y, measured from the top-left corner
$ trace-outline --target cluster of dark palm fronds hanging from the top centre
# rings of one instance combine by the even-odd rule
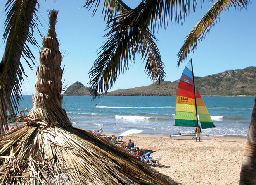
[[[112,2],[112,3],[109,3]],[[156,27],[167,27],[170,10],[171,23],[182,23],[182,19],[190,12],[189,0],[143,0],[138,7],[131,10],[121,1],[105,1],[105,17],[108,15],[109,33],[105,35],[106,42],[100,48],[99,57],[89,71],[90,87],[93,95],[104,94],[113,85],[119,75],[129,68],[135,55],[140,53],[145,61],[145,72],[152,81],[164,80],[164,64],[152,34]],[[85,7],[92,7],[93,15],[97,11],[100,0],[88,0]],[[120,3],[126,10],[116,8]],[[108,5],[108,6],[106,6]],[[193,1],[193,9],[196,1]],[[117,11],[119,10],[119,11]],[[179,10],[179,11],[177,11]],[[114,13],[120,12],[119,15]],[[116,16],[115,16],[116,15]],[[149,28],[151,27],[151,30]]]

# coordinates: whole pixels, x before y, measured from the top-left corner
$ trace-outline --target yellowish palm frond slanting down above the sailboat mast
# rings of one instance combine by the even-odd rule
[[[229,10],[233,7],[235,9],[247,9],[250,3],[251,0],[217,0],[187,35],[183,46],[178,52],[178,66],[195,50],[199,41],[202,41],[208,35],[224,10]]]

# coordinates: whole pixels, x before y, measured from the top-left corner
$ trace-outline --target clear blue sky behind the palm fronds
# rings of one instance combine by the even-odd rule
[[[123,0],[131,8],[138,5],[140,0]],[[5,1],[0,2],[0,24],[3,25],[5,13],[3,13]],[[106,23],[101,17],[102,6],[94,17],[92,11],[79,9],[84,5],[84,0],[39,0],[40,17],[44,25],[43,34],[46,35],[48,29],[47,10],[59,10],[58,22],[56,26],[57,37],[60,42],[60,50],[66,51],[61,67],[65,65],[62,82],[68,87],[76,81],[88,86],[88,71],[97,58],[97,50],[104,41],[104,31]],[[214,1],[215,2],[215,1]],[[165,65],[166,81],[180,79],[182,71],[190,58],[193,60],[194,75],[204,77],[216,74],[228,69],[244,69],[248,66],[256,66],[256,1],[252,0],[247,11],[231,9],[225,11],[220,21],[217,21],[209,35],[202,40],[197,50],[189,58],[182,62],[177,68],[177,53],[183,45],[183,41],[194,25],[209,10],[212,4],[208,0],[201,9],[198,2],[195,13],[191,13],[185,18],[183,25],[171,26],[169,24],[166,31],[159,28],[156,33],[162,61]],[[1,26],[1,37],[3,26]],[[38,38],[38,43],[42,43],[42,38]],[[5,45],[0,45],[0,57],[3,56]],[[33,49],[36,57],[36,66],[39,65],[39,50]],[[36,66],[30,70],[22,60],[28,78],[24,79],[22,89],[23,94],[35,94]],[[152,84],[144,72],[144,63],[138,55],[134,64],[129,67],[129,71],[115,82],[112,90],[126,89]]]

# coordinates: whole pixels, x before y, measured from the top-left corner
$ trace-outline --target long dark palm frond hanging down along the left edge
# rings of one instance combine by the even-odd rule
[[[8,130],[8,113],[11,117],[16,115],[21,95],[21,81],[24,69],[20,63],[21,56],[28,63],[33,62],[33,54],[26,45],[26,41],[36,44],[29,27],[33,29],[33,15],[35,14],[37,0],[8,0],[6,3],[6,21],[3,42],[6,42],[5,52],[0,63],[0,130]],[[32,22],[32,24],[31,24]],[[23,53],[22,53],[23,52]],[[31,67],[31,65],[29,64]]]

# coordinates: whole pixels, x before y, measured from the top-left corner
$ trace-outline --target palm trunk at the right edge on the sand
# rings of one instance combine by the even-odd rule
[[[246,147],[242,159],[239,185],[256,184],[256,97],[253,104],[251,124],[248,130]]]

